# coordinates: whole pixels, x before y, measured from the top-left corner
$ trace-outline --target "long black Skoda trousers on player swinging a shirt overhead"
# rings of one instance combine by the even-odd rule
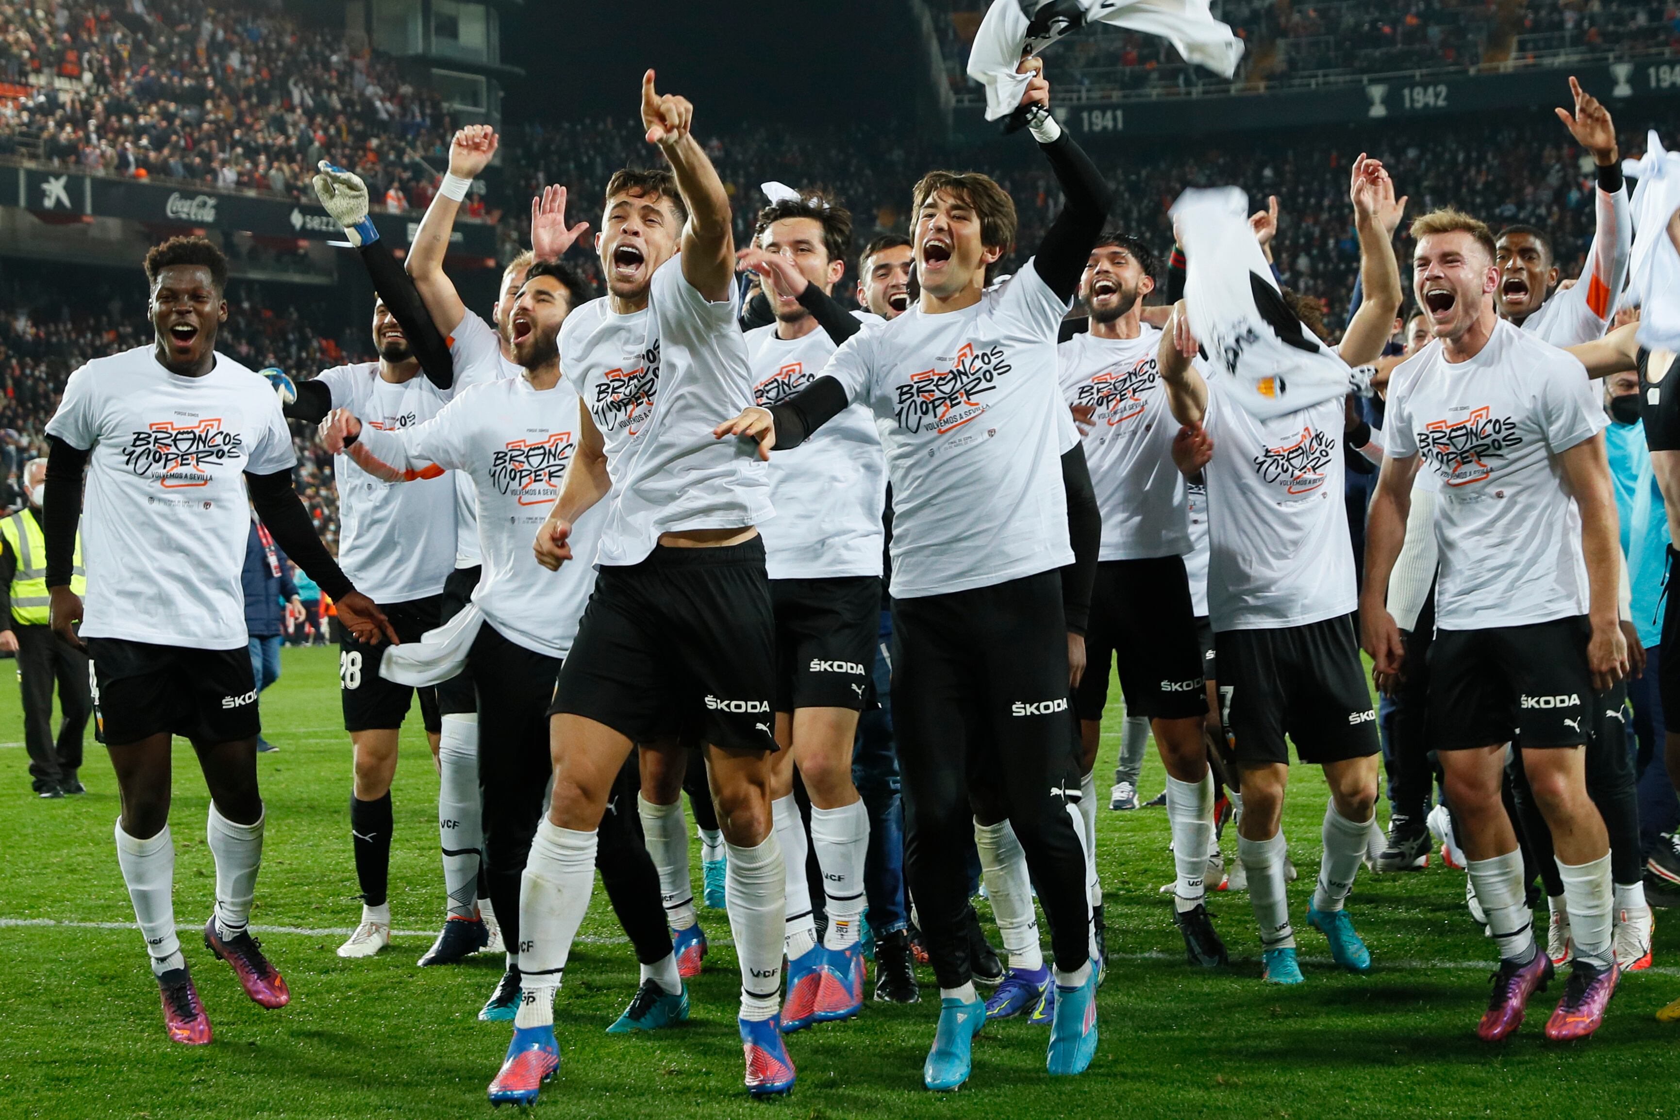
[[[1080,798],[1068,747],[1062,576],[894,599],[892,699],[904,774],[906,866],[941,987],[971,977],[969,788],[1001,791],[1050,925],[1057,966],[1089,955],[1085,855],[1070,811]]]

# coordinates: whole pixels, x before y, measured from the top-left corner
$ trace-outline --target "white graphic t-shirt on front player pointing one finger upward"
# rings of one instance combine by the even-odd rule
[[[712,435],[753,403],[732,292],[707,301],[677,254],[642,311],[620,316],[601,297],[559,329],[559,368],[601,430],[613,482],[600,564],[642,563],[662,532],[744,529],[774,512],[758,448]]]

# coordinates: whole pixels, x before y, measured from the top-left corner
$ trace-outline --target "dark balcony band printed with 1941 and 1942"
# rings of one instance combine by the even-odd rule
[[[1236,81],[1223,81],[1211,76],[1208,71],[1186,64],[1158,65],[1147,72],[1144,67],[1109,67],[1080,71],[1065,76],[1057,84],[1055,101],[1058,104],[1114,104],[1124,101],[1176,101],[1181,97],[1263,96],[1280,91],[1329,89],[1342,86],[1364,86],[1371,82],[1426,82],[1431,79],[1460,77],[1465,74],[1510,74],[1514,71],[1551,69],[1569,62],[1620,62],[1663,57],[1680,57],[1680,54],[1670,50],[1667,45],[1609,50],[1594,44],[1591,47],[1583,45],[1561,50],[1525,52],[1520,57],[1514,54],[1504,62],[1478,62],[1473,65],[1413,67],[1369,74],[1359,71],[1317,71],[1312,74],[1284,74],[1278,77],[1238,77]],[[1050,60],[1053,62],[1053,57]],[[1144,79],[1146,74],[1149,76],[1147,79]],[[1136,89],[1132,87],[1132,82],[1121,84],[1110,76],[1129,76],[1132,82],[1144,79],[1156,84],[1147,89]],[[1173,79],[1189,76],[1194,77],[1179,86],[1159,84],[1163,77]],[[959,109],[984,107],[986,94],[979,89],[979,86],[969,82],[968,87],[954,91],[953,104]]]

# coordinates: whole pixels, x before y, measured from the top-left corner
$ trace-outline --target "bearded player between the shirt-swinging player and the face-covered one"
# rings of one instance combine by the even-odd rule
[[[1117,662],[1127,717],[1151,720],[1166,766],[1166,813],[1176,883],[1173,920],[1191,964],[1226,962],[1208,920],[1205,877],[1213,848],[1213,772],[1203,719],[1201,648],[1184,556],[1191,551],[1188,490],[1173,465],[1173,421],[1156,368],[1161,331],[1142,322],[1154,290],[1154,255],[1139,238],[1097,238],[1079,297],[1090,329],[1057,351],[1062,393],[1090,410],[1084,435],[1102,549],[1085,635],[1085,673],[1074,693],[1084,744],[1085,798],[1095,804],[1092,766]]]

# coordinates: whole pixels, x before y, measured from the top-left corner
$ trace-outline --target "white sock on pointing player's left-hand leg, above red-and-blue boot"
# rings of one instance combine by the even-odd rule
[[[519,877],[519,1011],[514,1026],[554,1021],[554,992],[595,890],[595,831],[559,828],[546,816]]]

